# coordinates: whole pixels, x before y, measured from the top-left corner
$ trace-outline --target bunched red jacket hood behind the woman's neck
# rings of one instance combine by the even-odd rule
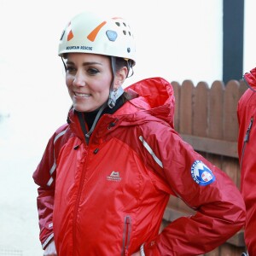
[[[175,98],[172,84],[159,77],[143,79],[125,88],[130,94],[138,97],[131,102],[143,108],[152,117],[157,117],[174,126]]]

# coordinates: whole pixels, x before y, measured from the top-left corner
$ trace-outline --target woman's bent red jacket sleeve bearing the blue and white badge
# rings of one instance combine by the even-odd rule
[[[198,255],[212,251],[241,230],[245,205],[239,190],[223,171],[174,131],[159,130],[148,144],[161,160],[154,170],[195,215],[177,218],[153,241],[144,243],[145,255]],[[150,156],[147,157],[150,159]]]

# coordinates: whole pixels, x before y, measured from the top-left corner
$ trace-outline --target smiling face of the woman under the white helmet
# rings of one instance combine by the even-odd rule
[[[66,84],[79,112],[91,112],[107,102],[113,79],[108,56],[70,53],[67,55]]]

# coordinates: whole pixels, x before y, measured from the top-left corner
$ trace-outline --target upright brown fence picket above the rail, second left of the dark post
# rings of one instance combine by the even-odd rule
[[[208,129],[208,84],[200,82],[195,87],[194,108],[193,108],[193,128],[195,136],[207,137]]]

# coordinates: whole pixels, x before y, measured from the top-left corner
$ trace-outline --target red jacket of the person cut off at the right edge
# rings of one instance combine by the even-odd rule
[[[237,107],[238,154],[241,166],[241,194],[246,203],[245,241],[250,256],[256,255],[256,68],[243,77],[249,89]]]

